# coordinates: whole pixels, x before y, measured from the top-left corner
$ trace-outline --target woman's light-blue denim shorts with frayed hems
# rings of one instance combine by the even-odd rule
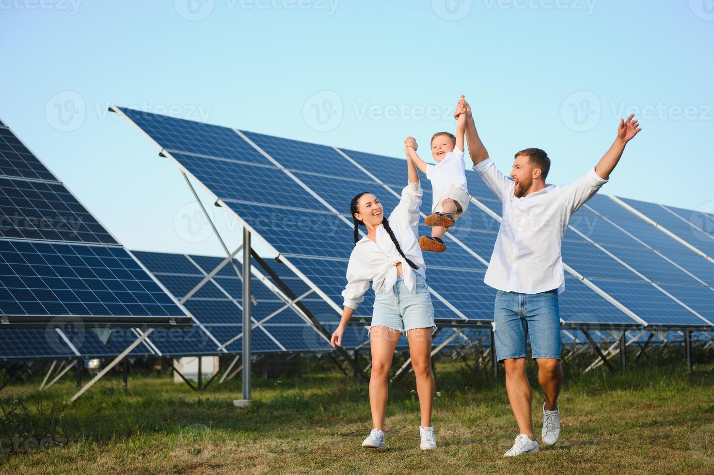
[[[404,284],[403,277],[398,276],[391,294],[382,292],[375,296],[372,324],[368,330],[372,326],[386,326],[403,333],[411,329],[431,326],[432,333],[436,331],[434,307],[431,304],[426,281],[418,272],[414,272],[414,278],[416,294],[412,294]]]

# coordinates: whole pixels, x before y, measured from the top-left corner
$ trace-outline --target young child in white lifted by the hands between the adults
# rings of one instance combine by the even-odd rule
[[[466,165],[463,163],[463,134],[466,130],[466,105],[463,96],[456,107],[458,122],[456,136],[449,132],[438,132],[431,137],[431,156],[436,165],[427,164],[416,154],[416,140],[407,137],[407,154],[417,168],[431,181],[433,204],[431,215],[424,224],[432,226],[431,237],[421,236],[419,247],[423,251],[443,252],[446,244],[443,236],[456,224],[468,208],[470,196],[466,188]]]

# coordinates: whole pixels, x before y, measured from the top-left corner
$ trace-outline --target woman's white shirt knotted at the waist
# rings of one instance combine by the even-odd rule
[[[410,183],[402,190],[401,200],[388,220],[404,255],[419,266],[416,272],[426,279],[426,264],[419,247],[419,206],[421,186],[418,182]],[[404,284],[412,294],[416,294],[415,271],[399,254],[383,224],[380,224],[376,229],[376,242],[364,236],[352,249],[347,265],[347,286],[342,291],[344,305],[357,309],[364,300],[363,295],[369,289],[370,281],[375,294],[391,294],[397,281],[398,262],[402,263]]]

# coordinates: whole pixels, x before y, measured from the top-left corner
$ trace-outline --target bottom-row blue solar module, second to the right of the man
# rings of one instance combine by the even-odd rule
[[[653,325],[702,325],[703,321],[646,282],[593,280],[593,284]]]

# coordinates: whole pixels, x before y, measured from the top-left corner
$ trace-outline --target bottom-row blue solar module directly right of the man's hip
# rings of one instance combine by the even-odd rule
[[[558,296],[560,318],[569,324],[639,324],[603,296],[575,277],[565,278],[565,289]]]

